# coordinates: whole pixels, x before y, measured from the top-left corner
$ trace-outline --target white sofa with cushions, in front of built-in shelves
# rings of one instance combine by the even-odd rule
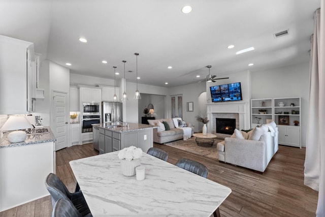
[[[263,173],[278,150],[278,128],[268,123],[246,133],[235,130],[230,138],[217,144],[220,162]]]

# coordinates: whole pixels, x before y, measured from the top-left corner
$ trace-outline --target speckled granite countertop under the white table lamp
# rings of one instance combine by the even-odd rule
[[[43,134],[34,134],[34,135],[27,135],[27,138],[23,142],[11,143],[7,140],[8,133],[4,133],[4,138],[0,140],[0,148],[8,148],[8,147],[16,147],[21,145],[31,145],[31,144],[38,144],[44,142],[55,142],[56,138],[51,131],[50,127],[44,127],[48,129],[48,133]]]

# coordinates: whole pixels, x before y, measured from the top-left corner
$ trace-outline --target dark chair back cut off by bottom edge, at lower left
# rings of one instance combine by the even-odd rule
[[[56,201],[52,217],[82,217],[80,212],[76,209],[73,203],[70,200],[58,199]]]

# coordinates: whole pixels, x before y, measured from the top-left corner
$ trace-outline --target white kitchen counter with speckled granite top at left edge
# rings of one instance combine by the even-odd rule
[[[45,197],[45,178],[55,173],[55,137],[48,133],[27,135],[24,142],[0,140],[0,211]]]

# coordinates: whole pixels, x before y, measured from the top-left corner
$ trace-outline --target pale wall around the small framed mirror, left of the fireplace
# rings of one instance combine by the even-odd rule
[[[169,96],[167,97],[168,99],[168,111],[171,110],[170,106],[170,101],[171,98],[170,96],[173,95],[182,95],[182,106],[183,106],[183,117],[182,119],[185,120],[186,122],[194,124],[194,131],[198,132],[199,127],[198,127],[198,121],[196,116],[200,115],[200,106],[199,106],[199,97],[202,94],[202,92],[206,91],[206,82],[200,82],[200,83],[193,83],[193,84],[187,84],[187,85],[182,85],[182,86],[177,86],[177,87],[171,87],[169,88]],[[186,103],[187,102],[193,102],[193,111],[188,112],[186,111]],[[169,112],[170,114],[170,112]],[[171,115],[171,114],[170,114]],[[168,116],[171,117],[171,116]]]

